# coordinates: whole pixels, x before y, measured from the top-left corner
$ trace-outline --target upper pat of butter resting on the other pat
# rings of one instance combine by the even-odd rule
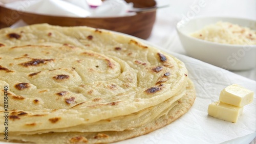
[[[243,107],[252,102],[253,93],[249,89],[233,84],[221,91],[219,100],[226,104]]]

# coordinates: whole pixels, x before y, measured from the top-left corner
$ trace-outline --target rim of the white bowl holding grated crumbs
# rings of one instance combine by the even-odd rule
[[[243,18],[243,17],[228,17],[228,16],[198,16],[198,17],[194,17],[194,18],[190,18],[189,20],[187,20],[187,22],[191,21],[191,20],[196,20],[196,19],[205,19],[205,18],[216,18],[216,19],[237,19],[237,20],[246,20],[246,21],[253,21],[255,22],[256,25],[256,20],[254,19],[249,19],[249,18]],[[251,46],[252,48],[254,47],[256,49],[256,44],[229,44],[229,43],[219,43],[219,42],[212,42],[212,41],[207,41],[207,40],[203,40],[203,39],[199,39],[199,38],[195,38],[192,36],[189,36],[188,34],[185,34],[183,32],[180,31],[181,29],[181,23],[183,20],[180,20],[179,22],[177,22],[176,24],[176,31],[182,35],[184,35],[187,38],[196,40],[196,41],[200,41],[203,42],[205,44],[215,44],[217,46],[228,46],[228,47],[237,47],[237,48],[241,48],[244,46]],[[183,25],[183,24],[182,24]],[[187,23],[185,24],[184,27],[186,27]],[[243,27],[243,26],[242,26]],[[256,31],[256,30],[255,30]]]

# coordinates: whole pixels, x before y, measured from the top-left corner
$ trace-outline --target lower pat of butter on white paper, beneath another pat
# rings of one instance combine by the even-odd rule
[[[209,104],[208,114],[224,121],[237,123],[238,117],[242,114],[244,107],[236,107],[220,101]]]

